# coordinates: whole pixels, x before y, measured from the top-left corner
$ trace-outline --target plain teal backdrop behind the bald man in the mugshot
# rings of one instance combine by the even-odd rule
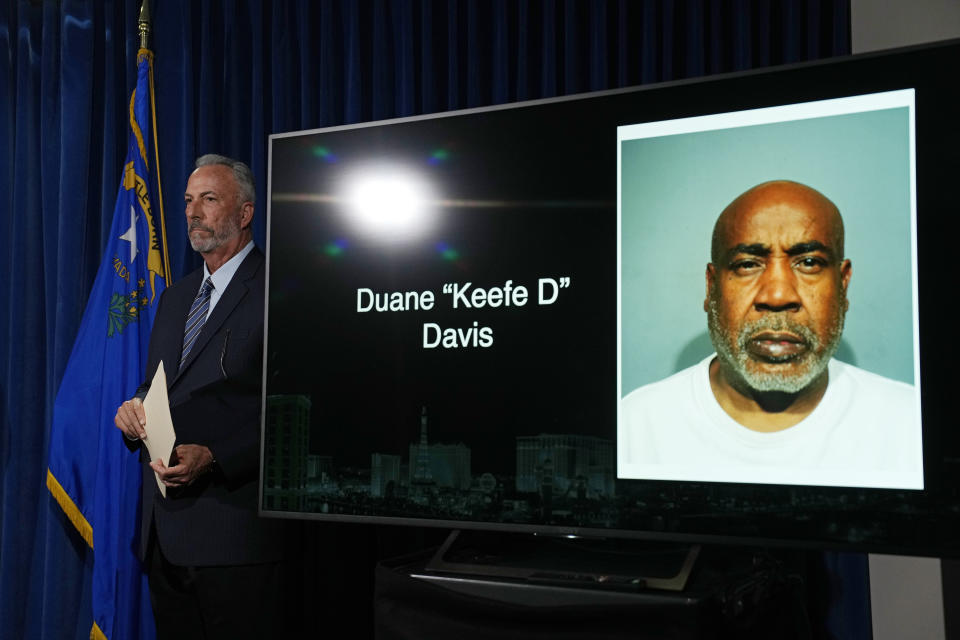
[[[907,107],[624,141],[621,392],[713,352],[710,236],[750,187],[787,179],[840,209],[853,273],[836,357],[914,382]]]

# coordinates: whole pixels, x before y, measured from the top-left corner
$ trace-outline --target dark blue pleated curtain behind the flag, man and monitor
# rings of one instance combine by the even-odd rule
[[[154,0],[152,13],[174,277],[199,265],[186,242],[181,198],[202,153],[249,160],[264,194],[267,136],[275,132],[850,48],[849,0]],[[90,554],[44,479],[53,398],[120,180],[138,14],[136,0],[0,2],[3,638],[85,638],[90,630]],[[261,200],[261,245],[263,211]],[[352,545],[367,560],[393,549],[376,528],[330,531],[302,535],[312,547]],[[314,549],[304,557],[317,566],[294,577],[304,584],[347,571],[332,554]],[[843,587],[826,614],[829,626],[838,636],[869,637],[865,557],[828,554],[825,563]],[[314,570],[324,575],[306,573]],[[369,599],[369,579],[341,584],[360,591],[352,598]],[[323,593],[335,591],[343,589]],[[365,620],[357,624],[368,631]]]

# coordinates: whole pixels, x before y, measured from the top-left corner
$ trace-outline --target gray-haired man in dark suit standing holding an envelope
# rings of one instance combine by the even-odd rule
[[[271,637],[281,545],[279,522],[257,516],[265,278],[253,176],[223,156],[196,166],[184,202],[204,266],[164,291],[148,382],[115,423],[139,449],[141,399],[163,362],[177,443],[170,460],[151,462],[143,448],[140,545],[158,636]]]

